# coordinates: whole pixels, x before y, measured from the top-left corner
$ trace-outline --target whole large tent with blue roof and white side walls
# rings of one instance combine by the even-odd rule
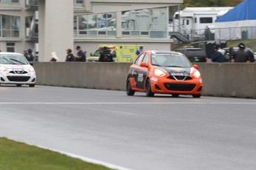
[[[256,0],[244,0],[215,21],[215,40],[256,39]]]

